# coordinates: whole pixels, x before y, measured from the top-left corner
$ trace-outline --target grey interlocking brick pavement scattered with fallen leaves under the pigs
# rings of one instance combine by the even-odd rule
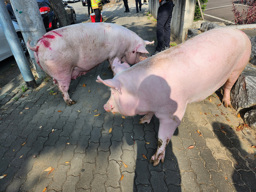
[[[130,12],[124,13],[122,2],[104,11],[106,22],[156,40],[148,5],[136,14],[129,0]],[[155,51],[153,45],[147,49]],[[107,67],[104,62],[72,80],[69,95],[77,103],[71,107],[51,78],[22,92],[20,75],[0,90],[0,176],[7,174],[0,192],[256,192],[255,133],[235,130],[243,122],[219,105],[218,91],[187,106],[165,162],[153,166],[159,121],[154,116],[139,124],[142,116],[104,110],[110,92],[96,77],[111,79]],[[48,167],[54,168],[49,174]]]

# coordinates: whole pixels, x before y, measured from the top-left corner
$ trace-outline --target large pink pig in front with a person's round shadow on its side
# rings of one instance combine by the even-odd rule
[[[236,29],[204,32],[132,67],[113,79],[97,82],[111,87],[107,112],[145,115],[140,123],[159,118],[158,148],[150,162],[165,158],[165,147],[181,123],[188,103],[205,99],[224,85],[224,106],[231,107],[230,90],[251,55],[250,39]]]

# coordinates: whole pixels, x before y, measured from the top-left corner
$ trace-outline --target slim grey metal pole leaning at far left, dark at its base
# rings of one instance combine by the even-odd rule
[[[27,87],[36,88],[37,83],[34,79],[32,71],[27,62],[27,58],[21,47],[20,40],[17,36],[15,28],[12,24],[11,17],[7,11],[5,1],[0,0],[0,24],[5,33],[5,37],[10,45],[11,51],[14,55],[14,58],[19,66],[21,75],[23,76]]]

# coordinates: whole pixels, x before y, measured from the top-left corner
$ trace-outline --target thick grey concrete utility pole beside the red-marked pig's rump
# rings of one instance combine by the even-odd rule
[[[37,0],[11,0],[11,6],[21,28],[24,41],[27,43],[28,40],[31,40],[30,44],[32,46],[35,45],[38,39],[46,33]],[[34,69],[37,71],[38,78],[44,78],[46,75],[43,69],[37,64],[34,52],[30,49],[28,49],[28,52],[32,59]]]

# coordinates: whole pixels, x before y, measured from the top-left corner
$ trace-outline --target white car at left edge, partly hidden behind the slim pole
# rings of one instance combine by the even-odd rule
[[[18,25],[18,23],[16,21],[12,21],[13,26],[15,28],[15,31],[20,39],[21,42],[21,47],[23,48],[23,51],[25,53],[25,55],[28,55],[28,50],[27,50],[27,46],[26,43],[21,35],[21,29]],[[9,43],[7,42],[7,39],[5,37],[5,33],[2,29],[2,26],[0,24],[0,42],[1,42],[1,46],[0,46],[0,61],[10,57],[13,55],[13,53],[11,52],[11,48]]]

